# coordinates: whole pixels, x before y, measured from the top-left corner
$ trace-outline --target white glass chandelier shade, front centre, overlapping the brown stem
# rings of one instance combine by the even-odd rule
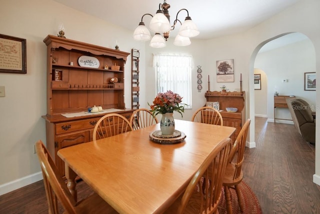
[[[149,28],[152,32],[163,33],[169,31],[171,28],[170,22],[161,10],[157,10],[155,15],[152,17]]]

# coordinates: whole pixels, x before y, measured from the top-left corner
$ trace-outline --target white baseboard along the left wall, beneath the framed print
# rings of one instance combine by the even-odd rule
[[[3,183],[0,185],[0,195],[13,191],[15,189],[21,188],[23,186],[29,185],[36,181],[42,180],[42,172],[36,172],[34,174],[27,175],[25,177],[21,177],[16,180],[12,180],[7,183]]]

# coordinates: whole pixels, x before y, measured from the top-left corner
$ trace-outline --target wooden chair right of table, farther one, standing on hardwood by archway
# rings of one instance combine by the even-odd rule
[[[238,184],[243,179],[243,172],[241,167],[244,159],[244,148],[245,148],[246,137],[249,130],[250,122],[251,122],[250,119],[247,119],[245,121],[244,125],[242,126],[238,136],[236,137],[232,145],[232,149],[229,155],[229,161],[228,161],[229,163],[226,166],[226,171],[223,177],[224,196],[226,201],[227,213],[232,213],[229,188],[235,189],[240,209],[241,211],[243,211],[243,204],[240,197],[241,192],[238,188]]]

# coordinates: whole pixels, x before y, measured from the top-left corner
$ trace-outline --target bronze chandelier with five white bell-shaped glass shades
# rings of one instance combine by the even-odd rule
[[[144,22],[142,21],[145,15],[150,15],[152,16],[152,19],[149,23],[149,29],[154,32],[154,35],[149,44],[151,47],[164,47],[165,41],[167,41],[169,37],[169,32],[174,29],[175,25],[178,22],[181,24],[181,26],[178,34],[174,38],[173,44],[177,46],[189,45],[191,43],[190,37],[198,35],[199,30],[191,20],[188,10],[184,8],[180,9],[176,13],[175,20],[173,21],[173,25],[171,26],[168,8],[170,8],[170,4],[166,3],[166,0],[164,0],[162,4],[159,3],[159,9],[156,10],[155,15],[151,15],[150,13],[143,14],[139,25],[133,32],[133,38],[139,41],[146,41],[151,38],[149,30],[146,28]],[[178,14],[182,10],[185,10],[187,13],[187,16],[185,17],[183,22],[178,19]],[[163,33],[163,36],[161,35],[161,33]]]

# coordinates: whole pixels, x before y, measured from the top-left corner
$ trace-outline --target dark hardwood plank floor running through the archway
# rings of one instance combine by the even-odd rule
[[[320,186],[312,182],[314,145],[294,125],[255,117],[255,148],[246,148],[244,180],[255,192],[263,213],[320,213]],[[91,193],[77,184],[78,199]],[[47,213],[42,181],[0,196],[0,214]]]

